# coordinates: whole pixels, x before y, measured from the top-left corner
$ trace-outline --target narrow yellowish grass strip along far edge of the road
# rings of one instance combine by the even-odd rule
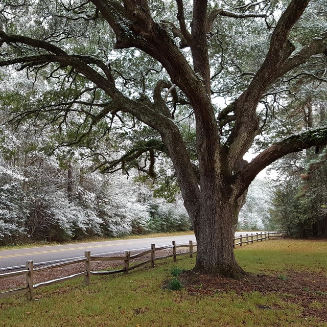
[[[88,243],[88,242],[105,242],[105,241],[118,241],[118,240],[130,240],[130,239],[147,239],[153,237],[166,237],[166,236],[180,236],[180,235],[191,235],[194,234],[193,230],[186,231],[175,231],[175,232],[167,232],[167,233],[150,233],[144,235],[126,235],[124,237],[117,238],[108,238],[108,237],[93,237],[93,238],[85,238],[81,240],[69,240],[67,242],[24,242],[19,244],[10,244],[0,246],[0,251],[3,250],[14,250],[14,249],[22,249],[22,248],[32,248],[39,246],[51,246],[51,245],[62,245],[62,244],[78,244],[78,243]]]

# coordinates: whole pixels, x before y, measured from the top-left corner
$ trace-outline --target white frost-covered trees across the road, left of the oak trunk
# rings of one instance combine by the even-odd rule
[[[49,139],[3,130],[0,142],[0,243],[60,241],[86,236],[185,230],[190,220],[176,202],[154,198],[137,176],[91,172],[80,152],[47,154]],[[129,178],[128,178],[129,177]],[[171,200],[171,199],[170,199]]]

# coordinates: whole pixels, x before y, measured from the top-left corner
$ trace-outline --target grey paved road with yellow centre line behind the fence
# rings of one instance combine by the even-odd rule
[[[236,235],[240,235],[237,232]],[[243,232],[243,234],[245,234]],[[69,259],[75,259],[84,256],[84,251],[90,250],[91,255],[107,254],[121,251],[146,250],[151,248],[154,243],[157,246],[172,244],[186,244],[189,240],[195,242],[194,235],[170,236],[147,239],[91,242],[78,244],[65,244],[54,246],[33,247],[28,249],[5,250],[0,251],[0,271],[5,268],[14,269],[26,266],[26,261],[33,260],[34,265],[38,263],[59,262]],[[141,252],[141,251],[140,251]]]

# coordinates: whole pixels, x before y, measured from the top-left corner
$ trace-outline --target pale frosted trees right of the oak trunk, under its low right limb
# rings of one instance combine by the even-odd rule
[[[238,229],[258,230],[269,228],[271,189],[265,179],[255,179],[249,189],[246,203],[239,214]]]

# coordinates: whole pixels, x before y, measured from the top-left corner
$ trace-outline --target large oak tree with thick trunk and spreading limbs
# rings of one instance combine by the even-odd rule
[[[103,122],[117,118],[123,122],[122,114],[149,126],[154,133],[142,147],[105,161],[102,170],[120,165],[124,169],[126,161],[147,152],[148,172],[154,175],[154,152],[164,151],[193,222],[198,248],[195,270],[242,278],[245,272],[235,260],[232,240],[249,184],[278,158],[327,144],[327,129],[267,143],[249,163],[243,156],[264,125],[273,124],[274,112],[268,119],[271,107],[265,99],[277,97],[292,81],[298,89],[305,79],[325,82],[327,34],[323,24],[315,33],[305,32],[319,17],[323,8],[319,1],[233,5],[220,7],[222,2],[206,0],[39,0],[32,7],[30,0],[7,0],[1,8],[0,66],[26,70],[35,82],[43,76],[65,85],[65,97],[49,96],[47,90],[42,99],[30,102],[35,108],[22,108],[14,118],[33,116],[41,121],[52,114],[48,123],[59,122],[62,127],[70,111],[78,112],[84,119],[75,122],[78,128],[71,143],[83,142]],[[236,35],[241,28],[243,36]],[[248,44],[249,35],[260,39],[260,46]],[[110,47],[111,36],[122,56],[128,49],[138,49],[135,58],[144,60],[138,64],[153,65],[140,73],[139,83],[127,77],[132,59],[118,67],[117,58],[107,55],[110,49],[104,48]],[[232,93],[220,89],[226,84]],[[217,95],[229,96],[228,105],[215,104]],[[266,106],[263,118],[260,103]],[[176,121],[176,106],[182,105],[194,118],[196,159]],[[106,132],[113,126],[109,124]]]

